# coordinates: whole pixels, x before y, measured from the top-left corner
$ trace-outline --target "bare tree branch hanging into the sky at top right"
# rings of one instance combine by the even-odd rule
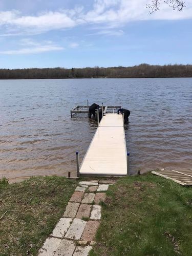
[[[159,11],[162,0],[152,0],[151,4],[146,5],[147,8],[150,8],[149,14]],[[169,7],[173,10],[182,11],[185,7],[185,2],[181,0],[164,0],[164,4],[168,4]]]

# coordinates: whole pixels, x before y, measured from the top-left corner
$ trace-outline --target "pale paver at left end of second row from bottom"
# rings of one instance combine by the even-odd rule
[[[71,218],[61,218],[57,223],[56,227],[53,229],[51,237],[63,238],[70,227],[73,219]]]

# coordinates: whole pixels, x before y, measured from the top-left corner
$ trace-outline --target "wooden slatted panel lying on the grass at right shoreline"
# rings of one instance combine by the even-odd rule
[[[158,170],[152,172],[155,175],[173,180],[183,186],[192,185],[192,169],[182,170]]]

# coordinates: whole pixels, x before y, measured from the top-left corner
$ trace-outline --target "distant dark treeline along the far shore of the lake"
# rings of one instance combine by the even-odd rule
[[[192,65],[148,65],[111,68],[0,69],[0,79],[192,77]]]

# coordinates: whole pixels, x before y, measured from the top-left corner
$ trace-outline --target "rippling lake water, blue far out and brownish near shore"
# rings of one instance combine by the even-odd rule
[[[89,102],[131,111],[131,173],[192,167],[192,78],[0,80],[0,177],[76,174],[97,123]]]

